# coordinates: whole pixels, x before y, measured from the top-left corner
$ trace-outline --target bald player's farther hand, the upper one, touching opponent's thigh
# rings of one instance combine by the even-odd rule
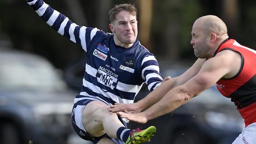
[[[112,113],[116,113],[119,111],[124,112],[124,110],[129,113],[140,113],[142,111],[141,107],[137,103],[115,103],[115,105],[111,105],[109,111]]]

